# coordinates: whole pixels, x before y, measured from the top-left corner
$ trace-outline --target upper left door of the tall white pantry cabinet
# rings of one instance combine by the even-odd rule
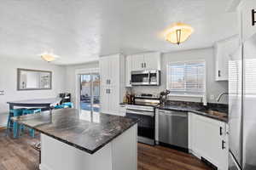
[[[109,75],[108,57],[102,57],[100,59],[100,75],[101,75],[101,86],[107,86],[108,75]]]

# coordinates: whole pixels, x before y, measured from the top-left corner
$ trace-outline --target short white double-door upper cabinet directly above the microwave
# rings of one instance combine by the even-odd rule
[[[160,70],[160,53],[132,55],[132,71]]]

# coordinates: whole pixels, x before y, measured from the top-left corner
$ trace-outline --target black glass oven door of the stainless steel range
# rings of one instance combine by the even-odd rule
[[[126,110],[126,116],[139,119],[137,123],[138,141],[154,144],[154,112]]]

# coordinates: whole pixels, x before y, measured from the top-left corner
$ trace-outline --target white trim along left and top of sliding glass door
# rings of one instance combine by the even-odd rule
[[[76,105],[75,108],[80,110],[80,75],[82,74],[99,74],[100,73],[100,69],[99,68],[88,68],[88,69],[77,69],[75,71],[75,77],[76,77]]]

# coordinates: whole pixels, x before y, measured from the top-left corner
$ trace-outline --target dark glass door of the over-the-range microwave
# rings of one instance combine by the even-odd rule
[[[149,71],[131,71],[131,85],[149,85]]]

